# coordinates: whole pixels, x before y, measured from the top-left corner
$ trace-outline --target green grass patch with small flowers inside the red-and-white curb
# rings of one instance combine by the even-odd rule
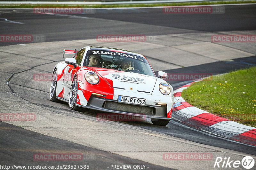
[[[212,76],[182,92],[193,106],[235,122],[256,127],[256,67]]]

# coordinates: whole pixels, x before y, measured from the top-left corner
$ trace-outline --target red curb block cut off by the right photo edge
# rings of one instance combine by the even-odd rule
[[[241,133],[230,139],[256,146],[256,129]]]

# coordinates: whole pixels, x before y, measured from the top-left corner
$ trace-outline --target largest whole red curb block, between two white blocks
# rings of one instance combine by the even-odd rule
[[[203,129],[213,124],[216,124],[222,121],[227,121],[227,120],[228,119],[213,115],[212,113],[202,113],[200,115],[186,119],[182,122],[185,124],[188,124],[189,126],[193,126],[197,129]]]

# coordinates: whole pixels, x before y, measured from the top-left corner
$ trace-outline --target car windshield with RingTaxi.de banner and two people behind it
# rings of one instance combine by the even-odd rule
[[[89,50],[86,53],[83,66],[101,67],[155,76],[148,60],[145,58],[115,50]]]

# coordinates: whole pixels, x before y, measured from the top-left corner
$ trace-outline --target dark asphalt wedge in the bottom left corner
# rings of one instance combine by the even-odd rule
[[[143,162],[136,159],[120,156],[117,154],[100,151],[84,145],[68,142],[57,138],[45,136],[36,132],[25,130],[11,124],[0,121],[0,165],[11,166],[57,166],[65,167],[67,165],[82,165],[87,169],[110,169],[111,165],[145,165],[147,169],[170,169],[163,166],[157,166],[148,162]],[[35,160],[36,154],[77,154],[82,155],[82,160],[68,161],[40,161]],[[39,158],[39,156],[38,156]],[[53,158],[53,157],[52,157]],[[73,157],[75,159],[75,157]],[[89,168],[88,168],[89,167]],[[109,168],[107,168],[109,167]],[[83,169],[86,169],[83,168]],[[3,169],[3,168],[1,168]],[[15,168],[25,169],[25,168]],[[43,169],[43,168],[38,168]],[[47,169],[47,168],[46,168]],[[49,168],[48,168],[49,169]],[[66,167],[68,169],[68,167]],[[77,168],[78,169],[78,168]],[[82,169],[82,168],[79,168]]]

